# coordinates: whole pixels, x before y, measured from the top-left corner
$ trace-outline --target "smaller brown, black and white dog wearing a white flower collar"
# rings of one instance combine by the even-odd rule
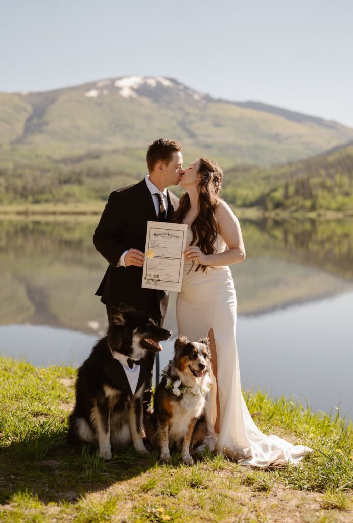
[[[207,422],[204,415],[210,378],[208,338],[189,342],[179,336],[174,358],[164,369],[164,376],[154,395],[154,413],[146,419],[146,436],[169,461],[170,450],[182,452],[183,462],[192,464],[190,449],[202,452],[207,446]]]

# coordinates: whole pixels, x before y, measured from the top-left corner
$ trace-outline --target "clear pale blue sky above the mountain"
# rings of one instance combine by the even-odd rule
[[[353,127],[352,0],[0,0],[0,92],[125,75]]]

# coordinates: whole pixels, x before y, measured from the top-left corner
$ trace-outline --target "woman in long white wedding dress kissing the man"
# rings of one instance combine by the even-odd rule
[[[241,392],[236,295],[229,265],[245,260],[245,248],[237,218],[218,196],[222,179],[215,162],[200,158],[190,164],[179,181],[186,192],[175,215],[176,222],[189,225],[176,307],[178,332],[193,341],[208,334],[212,347],[208,446],[244,465],[268,468],[298,463],[312,450],[261,433]]]

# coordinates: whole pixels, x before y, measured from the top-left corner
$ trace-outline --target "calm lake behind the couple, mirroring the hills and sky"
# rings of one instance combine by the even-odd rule
[[[0,354],[78,366],[104,334],[94,293],[107,267],[98,222],[0,220]],[[353,220],[241,221],[246,260],[233,265],[243,389],[352,417]],[[165,326],[176,335],[176,293]],[[172,355],[163,344],[161,366]]]

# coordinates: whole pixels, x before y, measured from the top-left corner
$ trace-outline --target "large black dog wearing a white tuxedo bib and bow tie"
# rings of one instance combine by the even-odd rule
[[[77,372],[72,438],[98,442],[99,456],[105,459],[112,456],[111,445],[131,440],[135,450],[147,452],[141,435],[142,395],[151,367],[145,356],[162,350],[160,341],[169,337],[170,332],[144,312],[126,305],[113,311],[107,335]]]

